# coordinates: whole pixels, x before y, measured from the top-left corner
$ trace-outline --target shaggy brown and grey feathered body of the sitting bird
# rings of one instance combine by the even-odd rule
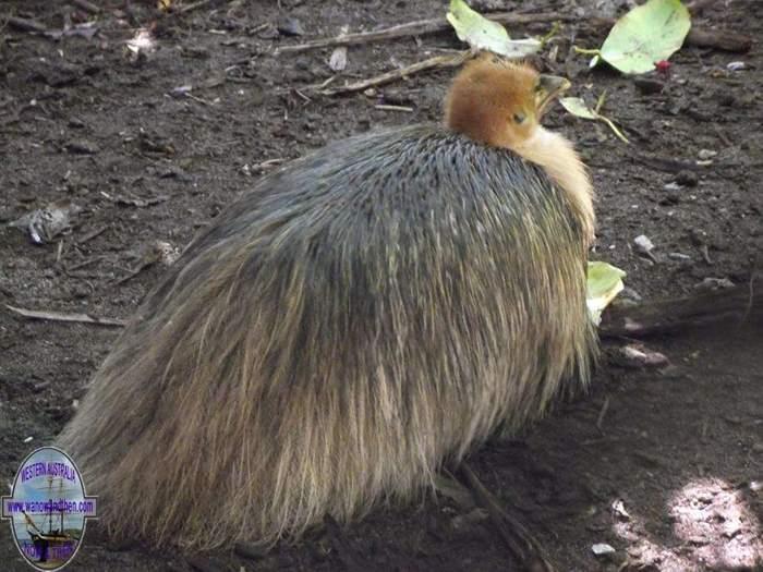
[[[263,179],[148,295],[59,443],[117,536],[296,537],[408,499],[585,379],[593,221],[446,126]]]

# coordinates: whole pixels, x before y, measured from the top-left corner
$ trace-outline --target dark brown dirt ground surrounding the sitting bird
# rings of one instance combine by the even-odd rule
[[[602,41],[606,29],[593,31],[584,14],[603,3],[619,5],[475,4],[581,16],[562,26],[553,44],[556,61],[543,64],[568,75],[572,94],[589,101],[606,88],[604,111],[631,139],[626,146],[603,124],[565,117],[559,107],[548,114],[547,124],[574,141],[591,166],[600,221],[592,258],[625,269],[627,284],[647,300],[694,291],[706,278],[749,282],[763,257],[760,44],[749,53],[683,48],[669,73],[652,82],[589,71],[570,46]],[[60,31],[65,22],[92,20],[62,4],[5,1],[0,22],[13,14]],[[3,482],[10,484],[23,458],[59,433],[118,331],[28,320],[5,305],[126,318],[161,272],[160,264],[135,272],[155,243],[182,247],[271,168],[267,161],[383,125],[439,121],[451,71],[416,74],[375,94],[319,96],[299,88],[335,75],[327,64],[331,50],[274,56],[272,48],[332,36],[342,26],[372,29],[441,16],[445,4],[211,1],[162,17],[153,2],[133,0],[125,10],[112,0],[100,2],[93,37],[0,28]],[[303,37],[288,35],[295,26],[287,17],[299,21]],[[694,23],[761,38],[763,3],[718,0]],[[125,40],[141,26],[153,28],[157,45],[135,58]],[[537,24],[513,33],[548,29]],[[336,83],[460,47],[452,33],[351,47]],[[730,71],[735,61],[744,68]],[[698,167],[698,159],[712,163]],[[48,244],[35,245],[7,224],[59,200],[81,210],[72,229]],[[640,234],[655,244],[656,264],[632,246]],[[647,343],[670,366],[639,369],[605,360],[588,395],[512,441],[475,451],[475,472],[518,507],[559,570],[763,570],[763,328],[727,325]],[[595,557],[592,546],[600,543],[615,553]],[[3,570],[27,569],[4,523],[0,562]],[[69,570],[358,568],[516,564],[483,512],[429,495],[259,558],[116,549],[98,539],[92,523]]]

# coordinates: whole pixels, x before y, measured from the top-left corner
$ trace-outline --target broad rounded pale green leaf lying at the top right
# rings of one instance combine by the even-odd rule
[[[622,73],[646,73],[683,44],[691,28],[680,0],[649,0],[615,23],[601,57]]]

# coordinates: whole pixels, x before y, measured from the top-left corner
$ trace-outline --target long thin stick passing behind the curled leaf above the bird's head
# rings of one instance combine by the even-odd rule
[[[571,20],[573,16],[565,16],[556,12],[545,14],[517,14],[516,12],[498,12],[491,14],[491,20],[500,24],[536,24],[544,22],[556,22]],[[395,38],[403,38],[408,36],[423,36],[425,34],[437,34],[452,29],[450,23],[444,17],[433,20],[420,20],[417,22],[409,22],[399,24],[385,29],[374,32],[361,32],[358,34],[340,34],[332,38],[322,38],[295,46],[281,46],[276,50],[276,53],[287,53],[294,51],[313,50],[316,48],[330,48],[334,46],[353,46],[359,44],[370,44],[373,41],[385,41]]]

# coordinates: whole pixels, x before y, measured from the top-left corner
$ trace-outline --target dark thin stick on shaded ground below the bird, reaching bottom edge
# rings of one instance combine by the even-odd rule
[[[456,470],[474,496],[476,503],[485,509],[491,521],[498,528],[500,537],[506,543],[522,570],[529,572],[554,572],[554,565],[545,557],[545,551],[521,520],[504,508],[500,501],[482,484],[474,471],[464,461]]]

